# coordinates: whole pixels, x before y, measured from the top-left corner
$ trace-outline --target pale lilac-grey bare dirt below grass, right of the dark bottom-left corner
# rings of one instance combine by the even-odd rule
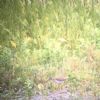
[[[100,100],[100,96],[96,97],[90,93],[84,93],[83,95],[79,92],[70,93],[67,89],[63,89],[50,93],[47,96],[32,96],[30,100]]]

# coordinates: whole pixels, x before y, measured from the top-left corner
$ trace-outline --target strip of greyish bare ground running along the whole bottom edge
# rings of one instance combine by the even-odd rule
[[[50,92],[48,95],[36,94],[34,96],[26,97],[22,91],[15,97],[0,98],[0,100],[100,100],[100,96],[94,96],[91,91],[87,93],[70,92],[68,89],[57,90]]]

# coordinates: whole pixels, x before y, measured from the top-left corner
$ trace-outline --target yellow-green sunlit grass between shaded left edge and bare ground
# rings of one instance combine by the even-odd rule
[[[84,92],[90,86],[100,94],[100,7],[95,5],[91,11],[88,4],[80,4],[79,0],[71,5],[68,0],[43,4],[37,0],[27,12],[23,9],[23,27],[15,29],[18,34],[7,42],[14,67],[10,89],[21,83],[35,95],[66,87]],[[8,51],[3,45],[5,56]],[[50,80],[57,77],[67,79],[61,85]]]

